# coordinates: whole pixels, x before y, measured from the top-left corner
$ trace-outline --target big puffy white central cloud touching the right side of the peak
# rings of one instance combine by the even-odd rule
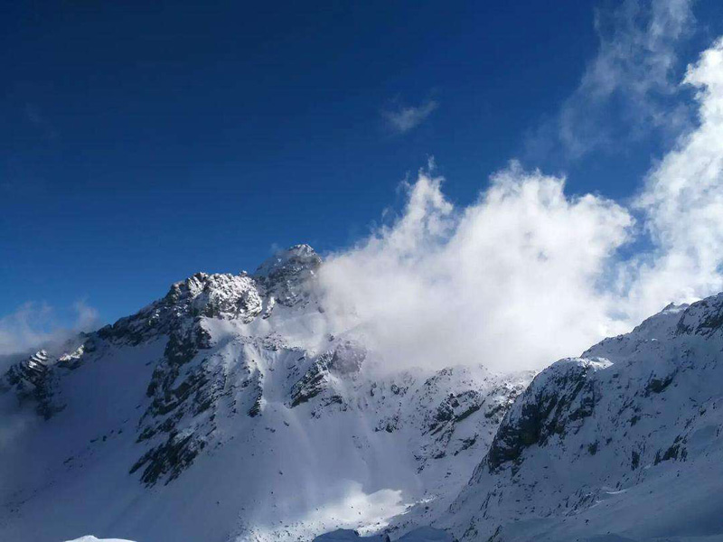
[[[492,181],[455,210],[422,172],[399,220],[329,257],[321,281],[337,325],[361,322],[394,367],[540,367],[610,332],[596,282],[630,215],[515,164]]]

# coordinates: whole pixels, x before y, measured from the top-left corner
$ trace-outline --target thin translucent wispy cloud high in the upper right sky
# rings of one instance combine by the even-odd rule
[[[690,108],[672,98],[680,90],[678,47],[693,31],[692,0],[626,0],[598,10],[598,52],[559,114],[528,140],[533,158],[559,153],[576,159],[662,130],[674,136]]]

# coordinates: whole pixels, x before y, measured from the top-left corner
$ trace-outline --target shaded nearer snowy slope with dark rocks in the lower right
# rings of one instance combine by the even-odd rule
[[[723,539],[723,294],[540,373],[438,522],[461,540]]]

